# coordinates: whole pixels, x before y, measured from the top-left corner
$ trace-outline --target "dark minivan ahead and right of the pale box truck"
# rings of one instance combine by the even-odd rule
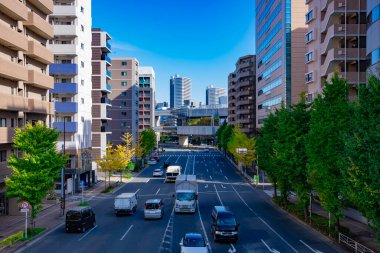
[[[214,241],[237,241],[239,224],[236,223],[235,216],[228,207],[214,206],[211,219],[211,232]]]

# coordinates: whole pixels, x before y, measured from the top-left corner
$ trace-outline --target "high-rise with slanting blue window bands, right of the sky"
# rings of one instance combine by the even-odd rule
[[[258,128],[273,109],[298,102],[305,90],[305,13],[305,1],[256,1]]]

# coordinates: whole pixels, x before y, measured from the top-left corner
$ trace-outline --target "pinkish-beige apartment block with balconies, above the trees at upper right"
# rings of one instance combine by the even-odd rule
[[[375,38],[379,37],[376,36],[379,30],[372,30],[374,42],[366,41],[370,32],[367,31],[367,0],[306,2],[304,63],[308,101],[322,92],[324,82],[330,81],[335,73],[347,80],[349,97],[353,99],[358,85],[366,82],[367,54],[375,50]],[[367,53],[366,44],[370,46]]]

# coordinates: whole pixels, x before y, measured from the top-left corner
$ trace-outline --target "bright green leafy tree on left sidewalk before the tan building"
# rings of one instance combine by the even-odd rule
[[[33,225],[42,208],[43,198],[67,162],[67,158],[57,152],[58,136],[59,132],[37,123],[16,129],[13,139],[13,147],[19,155],[12,154],[8,160],[8,166],[13,171],[5,180],[7,195],[30,203]]]

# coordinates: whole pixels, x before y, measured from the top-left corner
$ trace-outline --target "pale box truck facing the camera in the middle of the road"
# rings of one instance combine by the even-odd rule
[[[176,213],[195,213],[198,199],[198,184],[195,175],[179,175],[175,181]]]

